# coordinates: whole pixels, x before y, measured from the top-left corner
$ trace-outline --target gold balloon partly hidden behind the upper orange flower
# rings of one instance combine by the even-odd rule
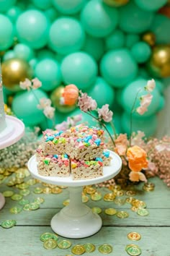
[[[53,92],[50,95],[50,99],[53,103],[53,106],[56,109],[58,109],[58,111],[61,111],[62,113],[68,113],[68,112],[73,111],[73,109],[76,108],[76,105],[74,105],[74,106],[61,105],[60,99],[62,97],[63,90],[64,90],[63,85],[61,85],[58,88],[56,88],[55,90],[53,90]]]

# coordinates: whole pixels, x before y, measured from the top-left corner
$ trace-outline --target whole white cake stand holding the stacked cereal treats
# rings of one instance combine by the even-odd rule
[[[35,179],[42,182],[67,186],[70,193],[70,203],[59,213],[53,216],[50,225],[55,233],[67,238],[84,238],[91,236],[102,227],[102,218],[93,213],[89,207],[84,205],[81,200],[82,187],[91,184],[104,182],[116,176],[122,167],[122,160],[119,155],[110,151],[112,157],[111,165],[104,167],[104,175],[96,179],[73,180],[71,176],[52,177],[41,176],[37,172],[37,162],[35,155],[28,161],[28,168]]]

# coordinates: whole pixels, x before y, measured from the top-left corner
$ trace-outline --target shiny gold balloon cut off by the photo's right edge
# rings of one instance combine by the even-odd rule
[[[148,71],[156,77],[170,76],[170,46],[158,45],[153,47],[150,61],[147,64]]]

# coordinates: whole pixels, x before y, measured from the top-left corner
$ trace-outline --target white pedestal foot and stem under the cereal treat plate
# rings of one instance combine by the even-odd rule
[[[74,239],[97,233],[102,227],[102,219],[82,202],[82,187],[69,187],[68,189],[70,203],[53,216],[51,228],[60,236]]]

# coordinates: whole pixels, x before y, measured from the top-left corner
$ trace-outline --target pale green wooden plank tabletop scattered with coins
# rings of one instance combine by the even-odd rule
[[[32,179],[27,177],[27,179]],[[112,253],[109,255],[124,256],[128,255],[125,247],[128,244],[137,244],[142,250],[143,256],[170,256],[170,189],[166,187],[163,181],[158,178],[150,179],[156,187],[153,192],[145,192],[143,184],[135,186],[137,194],[134,196],[139,200],[146,202],[149,211],[148,216],[138,216],[137,213],[130,210],[130,204],[117,205],[115,202],[105,202],[103,199],[93,201],[89,199],[86,202],[90,208],[102,208],[102,229],[93,236],[84,239],[68,239],[75,244],[93,243],[96,250],[92,253],[84,253],[84,255],[98,256],[102,255],[99,251],[99,245],[110,244],[113,247]],[[0,210],[0,220],[14,219],[17,225],[11,229],[3,229],[0,226],[0,255],[1,256],[21,256],[21,255],[57,255],[66,256],[73,255],[71,247],[69,249],[47,250],[43,247],[43,242],[40,241],[40,235],[44,232],[53,232],[50,228],[50,220],[63,208],[63,201],[69,198],[68,189],[63,189],[63,192],[58,195],[40,194],[33,192],[35,187],[42,187],[42,184],[30,186],[30,195],[24,196],[25,199],[33,202],[36,197],[43,197],[45,202],[40,205],[38,210],[24,211],[21,213],[12,214],[9,209],[14,206],[19,206],[18,201],[6,197],[6,204]],[[19,193],[19,189],[7,187],[5,183],[0,185],[0,192],[13,190]],[[107,188],[97,189],[102,192],[102,195],[109,192]],[[127,195],[124,198],[128,197]],[[119,197],[122,198],[122,197]],[[106,208],[116,208],[117,210],[125,210],[129,213],[128,218],[117,218],[117,216],[108,216],[104,213]],[[128,233],[135,231],[140,233],[139,241],[130,241],[127,237]],[[63,237],[59,236],[61,241]]]

